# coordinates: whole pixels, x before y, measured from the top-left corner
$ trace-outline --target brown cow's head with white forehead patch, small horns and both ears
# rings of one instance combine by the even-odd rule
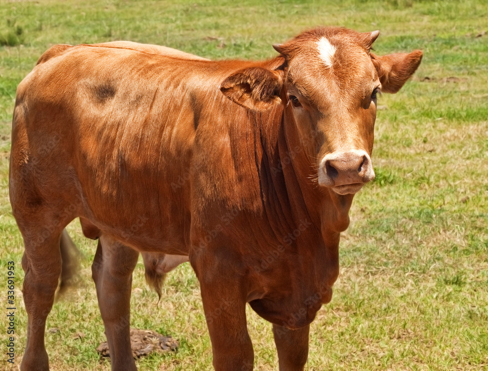
[[[255,111],[285,105],[307,155],[317,159],[320,186],[354,194],[374,178],[371,163],[376,99],[396,93],[415,72],[421,51],[370,54],[379,32],[317,28],[273,47],[276,69],[250,67],[229,76],[221,91]]]

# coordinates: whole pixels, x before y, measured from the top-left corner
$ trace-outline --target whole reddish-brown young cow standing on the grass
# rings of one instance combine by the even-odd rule
[[[138,251],[189,255],[215,370],[253,368],[246,303],[273,323],[280,370],[303,370],[352,198],[374,177],[377,94],[396,93],[422,59],[370,54],[378,34],[316,28],[264,62],[134,43],[48,50],[19,85],[12,129],[28,314],[21,369],[49,368],[60,237],[81,216],[101,231],[93,275],[112,370],[136,370]]]

